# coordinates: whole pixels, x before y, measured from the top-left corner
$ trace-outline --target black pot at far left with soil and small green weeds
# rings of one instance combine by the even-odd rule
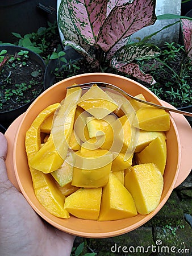
[[[8,127],[43,91],[45,64],[35,52],[0,46],[0,123]]]

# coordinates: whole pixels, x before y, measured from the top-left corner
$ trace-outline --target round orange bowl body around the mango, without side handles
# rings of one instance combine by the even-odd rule
[[[135,217],[115,221],[94,221],[82,220],[73,216],[69,219],[63,219],[55,217],[47,212],[36,199],[34,193],[24,145],[26,131],[41,110],[48,105],[60,102],[64,99],[67,86],[71,86],[74,83],[83,84],[85,82],[93,81],[114,84],[128,93],[131,93],[133,96],[143,93],[147,101],[153,101],[156,104],[162,105],[162,102],[150,90],[126,77],[108,73],[89,73],[62,80],[45,90],[45,92],[31,104],[30,108],[28,108],[27,112],[24,114],[15,135],[13,161],[14,172],[20,191],[22,191],[31,207],[37,214],[44,218],[44,220],[56,228],[76,236],[104,238],[118,236],[138,228],[149,221],[162,208],[172,193],[177,180],[181,160],[181,146],[176,124],[171,117],[170,130],[166,133],[167,163],[164,172],[164,189],[162,191],[160,204],[153,212],[147,215],[138,214]]]

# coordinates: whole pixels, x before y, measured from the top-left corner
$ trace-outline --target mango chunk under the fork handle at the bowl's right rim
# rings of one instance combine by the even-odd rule
[[[164,109],[147,106],[137,110],[133,126],[145,131],[168,131],[170,116]]]

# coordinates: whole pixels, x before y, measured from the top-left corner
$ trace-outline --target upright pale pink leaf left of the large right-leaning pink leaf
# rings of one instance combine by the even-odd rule
[[[94,45],[106,19],[107,1],[103,0],[67,0],[70,18],[77,33],[86,43]]]

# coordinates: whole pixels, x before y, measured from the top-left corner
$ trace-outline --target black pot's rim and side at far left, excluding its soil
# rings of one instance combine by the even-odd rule
[[[0,46],[0,52],[2,51],[2,49],[6,49],[7,53],[10,53],[11,55],[14,55],[16,52],[19,52],[20,50],[28,51],[29,52],[28,56],[30,57],[30,59],[36,61],[36,63],[40,65],[41,71],[44,74],[44,72],[45,72],[44,60],[39,55],[37,55],[35,52],[30,51],[29,49],[26,49],[26,48],[23,48],[23,47],[19,47],[19,46],[4,46],[3,45],[3,46]],[[43,90],[44,90],[44,88],[42,86],[42,89],[41,89],[40,93],[42,93]],[[37,96],[39,96],[39,94]],[[24,105],[20,106],[19,108],[9,110],[9,111],[5,111],[5,112],[0,112],[0,125],[2,127],[5,127],[5,129],[7,129],[7,127],[9,127],[10,124],[17,117],[19,117],[20,114],[23,114],[27,110],[28,106],[30,106],[30,104],[35,100],[36,97],[34,97],[27,104],[24,104]]]

